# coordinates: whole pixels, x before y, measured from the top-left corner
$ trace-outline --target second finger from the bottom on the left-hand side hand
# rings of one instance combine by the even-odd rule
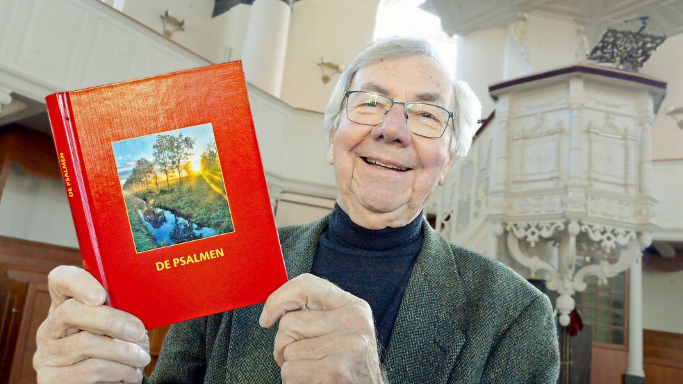
[[[110,360],[140,368],[147,366],[150,361],[149,353],[137,344],[90,332],[79,332],[52,340],[45,344],[40,353],[47,359],[42,364],[54,367],[73,365],[88,358]]]

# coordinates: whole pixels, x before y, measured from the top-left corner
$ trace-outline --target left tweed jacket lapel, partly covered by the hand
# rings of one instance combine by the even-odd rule
[[[329,216],[311,226],[302,227],[304,233],[281,238],[282,253],[287,276],[292,279],[311,272],[313,256],[318,247],[320,234],[327,226]],[[261,328],[258,317],[263,304],[240,308],[233,312],[230,331],[225,383],[280,383],[280,368],[273,359],[272,349],[277,324]]]

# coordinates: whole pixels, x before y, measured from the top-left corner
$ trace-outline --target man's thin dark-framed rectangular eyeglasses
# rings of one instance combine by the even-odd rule
[[[441,137],[453,119],[453,112],[429,103],[409,103],[365,91],[347,91],[346,117],[354,123],[377,125],[384,121],[394,104],[403,104],[406,124],[415,135]]]

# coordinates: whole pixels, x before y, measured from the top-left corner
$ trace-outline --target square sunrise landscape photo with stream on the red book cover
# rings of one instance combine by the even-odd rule
[[[211,123],[112,147],[138,253],[234,231]]]

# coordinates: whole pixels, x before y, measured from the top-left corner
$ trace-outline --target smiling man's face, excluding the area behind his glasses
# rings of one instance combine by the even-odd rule
[[[427,56],[389,58],[363,67],[349,90],[452,108],[449,78]],[[346,101],[342,108],[328,153],[339,187],[339,205],[365,228],[408,224],[436,185],[443,183],[453,160],[448,151],[450,122],[447,131],[434,139],[411,133],[402,104],[395,104],[377,126],[347,119]]]

